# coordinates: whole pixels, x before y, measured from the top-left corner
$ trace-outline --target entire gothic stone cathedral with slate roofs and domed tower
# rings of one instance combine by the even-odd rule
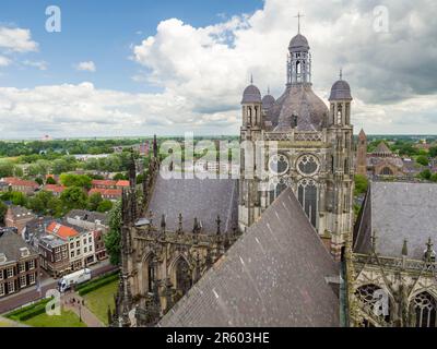
[[[283,94],[245,88],[238,180],[165,179],[155,139],[140,190],[132,157],[113,326],[436,326],[437,185],[371,182],[354,224],[351,88],[311,64],[298,31]]]

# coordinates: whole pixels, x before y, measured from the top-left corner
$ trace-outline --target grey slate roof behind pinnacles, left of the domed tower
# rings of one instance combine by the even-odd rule
[[[157,177],[149,210],[153,213],[154,225],[166,216],[166,228],[175,231],[179,213],[186,231],[191,231],[194,217],[202,224],[203,233],[216,232],[220,215],[222,231],[231,232],[237,227],[238,185],[233,179],[164,179]]]

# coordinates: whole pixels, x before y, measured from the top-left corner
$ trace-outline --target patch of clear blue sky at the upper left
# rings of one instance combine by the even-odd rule
[[[45,29],[48,17],[45,11],[51,4],[61,9],[61,33]],[[177,17],[193,26],[206,26],[260,8],[262,1],[259,0],[2,0],[0,23],[29,28],[32,39],[39,44],[39,51],[26,55],[26,59],[46,61],[48,65],[45,71],[12,67],[2,72],[0,84],[25,88],[90,81],[97,88],[160,91],[130,79],[139,71],[139,65],[129,57],[131,46],[154,35],[161,21]],[[74,69],[74,64],[90,60],[97,67],[95,73]]]

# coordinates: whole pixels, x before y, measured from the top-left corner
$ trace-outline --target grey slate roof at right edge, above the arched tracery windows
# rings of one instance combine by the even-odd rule
[[[354,251],[370,252],[371,231],[380,255],[400,257],[404,239],[409,258],[422,260],[430,237],[437,244],[437,184],[371,182]]]

